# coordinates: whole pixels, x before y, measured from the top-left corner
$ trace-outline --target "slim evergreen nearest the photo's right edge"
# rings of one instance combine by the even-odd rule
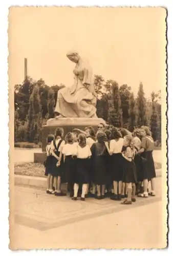
[[[156,141],[158,139],[159,116],[157,112],[154,92],[152,92],[151,98],[152,98],[152,117],[150,119],[150,129],[152,132],[153,139],[154,141]]]

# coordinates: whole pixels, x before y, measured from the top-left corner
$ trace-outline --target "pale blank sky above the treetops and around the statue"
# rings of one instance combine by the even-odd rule
[[[162,8],[11,8],[10,84],[28,75],[49,86],[73,82],[74,63],[66,53],[87,57],[94,74],[127,83],[145,96],[165,88],[166,11]]]

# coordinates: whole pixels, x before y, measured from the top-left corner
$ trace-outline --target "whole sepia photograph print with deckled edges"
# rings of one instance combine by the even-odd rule
[[[166,15],[9,8],[11,250],[167,246]]]

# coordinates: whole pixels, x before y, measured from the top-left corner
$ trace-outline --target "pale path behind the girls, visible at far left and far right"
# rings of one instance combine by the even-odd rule
[[[34,153],[41,153],[41,152],[42,152],[41,148],[35,148],[35,149],[14,148],[14,161],[15,163],[34,162]],[[161,150],[154,151],[153,157],[155,162],[162,162]]]

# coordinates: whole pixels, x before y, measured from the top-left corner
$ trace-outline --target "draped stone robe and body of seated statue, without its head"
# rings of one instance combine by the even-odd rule
[[[55,112],[63,117],[96,117],[97,97],[88,61],[80,58],[73,73],[73,86],[58,91]]]

